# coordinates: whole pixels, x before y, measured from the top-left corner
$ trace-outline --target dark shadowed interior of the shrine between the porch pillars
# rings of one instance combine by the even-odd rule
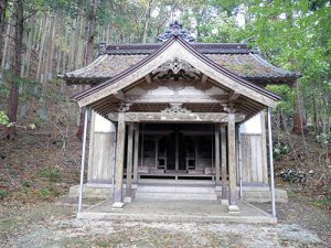
[[[214,125],[140,123],[139,129],[139,179],[214,180]]]

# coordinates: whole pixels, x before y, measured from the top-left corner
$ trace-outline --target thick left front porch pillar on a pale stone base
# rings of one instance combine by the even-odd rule
[[[122,171],[124,171],[124,154],[125,154],[125,139],[126,138],[126,122],[122,112],[118,114],[117,125],[117,145],[116,145],[116,172],[115,172],[115,193],[114,193],[114,208],[122,208]]]

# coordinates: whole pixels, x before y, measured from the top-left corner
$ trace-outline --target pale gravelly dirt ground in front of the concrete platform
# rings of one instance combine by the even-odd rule
[[[296,196],[278,204],[277,225],[82,220],[75,212],[60,200],[4,205],[1,247],[330,247],[331,240],[330,215]]]

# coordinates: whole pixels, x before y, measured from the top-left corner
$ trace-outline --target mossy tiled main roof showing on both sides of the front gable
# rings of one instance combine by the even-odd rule
[[[243,43],[190,43],[199,53],[229,72],[258,85],[291,84],[300,75],[278,68]],[[98,84],[138,64],[162,44],[107,45],[90,65],[62,77],[68,84]]]

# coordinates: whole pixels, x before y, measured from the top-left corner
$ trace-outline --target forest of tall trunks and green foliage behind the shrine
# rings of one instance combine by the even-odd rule
[[[328,166],[328,0],[0,0],[0,138],[13,142],[22,130],[42,130],[50,123],[65,149],[68,129],[79,122],[78,107],[70,96],[83,88],[67,89],[57,75],[93,62],[99,42],[156,42],[175,19],[197,42],[248,43],[274,65],[300,73],[293,87],[268,86],[282,97],[273,112],[275,157],[290,148],[296,164],[314,164],[316,159],[306,158],[313,157],[307,144],[312,137],[320,148],[313,158]],[[58,103],[61,111],[53,109]],[[286,133],[296,133],[300,147]]]

